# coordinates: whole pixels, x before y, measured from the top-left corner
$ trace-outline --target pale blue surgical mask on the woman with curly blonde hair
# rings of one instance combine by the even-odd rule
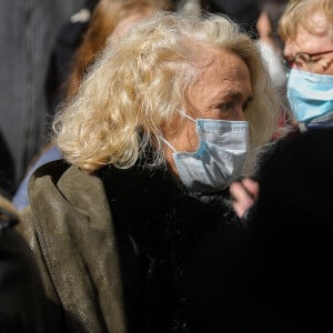
[[[249,153],[248,121],[188,119],[195,122],[199,149],[195,152],[176,152],[173,160],[183,184],[191,192],[212,193],[236,180]]]

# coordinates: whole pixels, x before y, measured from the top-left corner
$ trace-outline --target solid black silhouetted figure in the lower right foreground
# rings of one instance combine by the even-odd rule
[[[242,236],[216,233],[200,249],[189,287],[209,332],[333,330],[332,141],[332,129],[281,139]]]

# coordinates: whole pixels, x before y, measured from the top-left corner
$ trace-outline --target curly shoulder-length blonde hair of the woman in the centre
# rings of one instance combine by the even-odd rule
[[[254,165],[276,131],[282,109],[259,49],[225,17],[165,11],[110,42],[56,118],[54,140],[65,160],[88,172],[104,164],[130,168],[152,144],[153,162],[164,163],[161,131],[186,109],[186,90],[198,77],[194,64],[204,57],[204,47],[198,44],[230,50],[249,67],[253,100],[245,111],[248,165]]]

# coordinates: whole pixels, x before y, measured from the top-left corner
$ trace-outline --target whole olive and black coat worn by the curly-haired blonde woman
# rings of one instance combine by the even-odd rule
[[[221,195],[198,198],[165,169],[60,161],[30,181],[21,232],[52,303],[51,332],[200,332],[183,273],[210,234],[238,226]]]

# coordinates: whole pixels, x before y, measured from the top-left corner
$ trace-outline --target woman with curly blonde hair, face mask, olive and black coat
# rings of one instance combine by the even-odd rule
[[[183,270],[241,228],[230,182],[251,174],[281,103],[260,51],[219,16],[161,12],[100,56],[54,122],[21,232],[54,332],[194,332]],[[81,330],[81,331],[80,331]]]

